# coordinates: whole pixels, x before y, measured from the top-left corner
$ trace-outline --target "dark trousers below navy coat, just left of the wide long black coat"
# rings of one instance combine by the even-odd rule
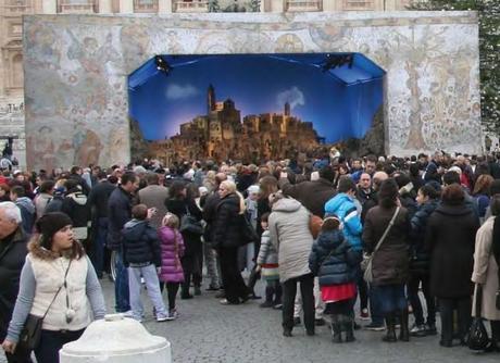
[[[424,311],[422,309],[421,299],[418,297],[418,285],[422,281],[422,291],[424,292],[425,303],[427,304],[427,324],[436,324],[436,302],[430,296],[430,278],[428,275],[415,275],[408,281],[408,299],[412,304],[413,315],[415,316],[415,324],[423,325]]]

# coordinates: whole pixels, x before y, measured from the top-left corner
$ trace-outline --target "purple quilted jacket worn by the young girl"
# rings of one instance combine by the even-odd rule
[[[162,246],[162,270],[160,280],[164,283],[184,281],[184,272],[180,264],[180,256],[184,254],[183,235],[171,227],[159,229]]]

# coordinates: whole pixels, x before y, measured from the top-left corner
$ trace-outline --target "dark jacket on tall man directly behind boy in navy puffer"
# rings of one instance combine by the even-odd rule
[[[122,247],[122,229],[132,217],[132,195],[117,187],[108,200],[108,247]]]

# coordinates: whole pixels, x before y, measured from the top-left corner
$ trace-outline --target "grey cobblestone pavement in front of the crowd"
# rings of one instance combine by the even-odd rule
[[[102,280],[109,312],[114,301],[113,284]],[[258,285],[262,289],[262,285]],[[263,291],[262,291],[263,292]],[[147,297],[145,296],[145,301]],[[166,297],[165,297],[166,300]],[[213,292],[192,300],[178,300],[180,313],[174,322],[157,323],[149,312],[147,329],[172,343],[175,363],[307,363],[307,362],[496,362],[500,354],[477,354],[467,348],[441,348],[438,336],[413,338],[410,342],[384,343],[384,333],[358,330],[353,343],[334,345],[326,326],[308,337],[302,326],[284,338],[280,312],[260,309],[259,300],[242,305],[221,305]],[[1,355],[1,354],[0,354]],[[0,362],[5,362],[3,355]]]

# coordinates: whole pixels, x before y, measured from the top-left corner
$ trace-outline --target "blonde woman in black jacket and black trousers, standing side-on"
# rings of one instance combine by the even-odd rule
[[[238,248],[242,245],[240,218],[245,214],[245,200],[236,191],[236,184],[224,180],[218,186],[221,201],[215,212],[212,245],[218,252],[222,280],[226,298],[222,304],[246,302],[249,289],[238,268]]]

